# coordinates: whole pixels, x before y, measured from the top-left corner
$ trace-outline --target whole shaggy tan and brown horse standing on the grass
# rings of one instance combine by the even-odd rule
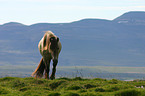
[[[58,63],[58,56],[61,51],[61,43],[59,38],[51,31],[46,31],[38,44],[38,49],[42,58],[36,70],[32,73],[35,78],[55,79],[56,66]],[[52,74],[49,78],[50,62],[53,61]]]

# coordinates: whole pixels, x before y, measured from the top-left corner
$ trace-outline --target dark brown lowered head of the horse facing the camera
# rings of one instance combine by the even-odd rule
[[[58,62],[58,55],[59,55],[59,38],[58,37],[51,37],[50,38],[50,45],[49,51],[51,53],[52,59],[54,63]]]

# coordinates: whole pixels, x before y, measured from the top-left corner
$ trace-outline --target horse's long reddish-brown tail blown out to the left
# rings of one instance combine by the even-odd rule
[[[44,68],[45,68],[45,64],[43,61],[43,58],[41,59],[38,67],[36,68],[36,70],[32,73],[31,76],[35,76],[35,78],[41,78],[43,76],[43,72],[44,72]]]

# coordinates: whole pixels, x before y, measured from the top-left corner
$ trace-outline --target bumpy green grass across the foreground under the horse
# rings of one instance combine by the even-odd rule
[[[58,78],[55,80],[31,77],[0,78],[1,96],[144,96],[145,81],[120,81],[101,78]]]

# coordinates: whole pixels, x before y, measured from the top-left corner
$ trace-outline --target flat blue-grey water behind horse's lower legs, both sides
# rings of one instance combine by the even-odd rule
[[[0,70],[0,77],[31,77],[33,70]],[[82,77],[82,78],[104,78],[104,79],[119,79],[119,80],[135,80],[145,79],[145,74],[142,73],[108,73],[108,72],[64,72],[57,71],[56,77]]]

